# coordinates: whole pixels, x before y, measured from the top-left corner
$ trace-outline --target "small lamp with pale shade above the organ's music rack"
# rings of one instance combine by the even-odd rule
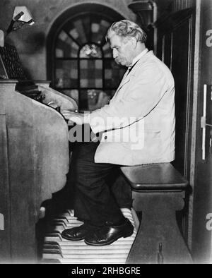
[[[6,30],[5,37],[13,31],[16,31],[23,27],[23,25],[33,25],[35,21],[33,16],[26,6],[16,6],[13,11],[13,18],[11,23]],[[0,47],[4,47],[4,32],[0,30]]]

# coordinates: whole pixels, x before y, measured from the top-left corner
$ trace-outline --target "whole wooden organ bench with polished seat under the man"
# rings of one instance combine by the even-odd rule
[[[188,181],[170,163],[122,167],[141,225],[126,263],[192,263],[176,220]]]

